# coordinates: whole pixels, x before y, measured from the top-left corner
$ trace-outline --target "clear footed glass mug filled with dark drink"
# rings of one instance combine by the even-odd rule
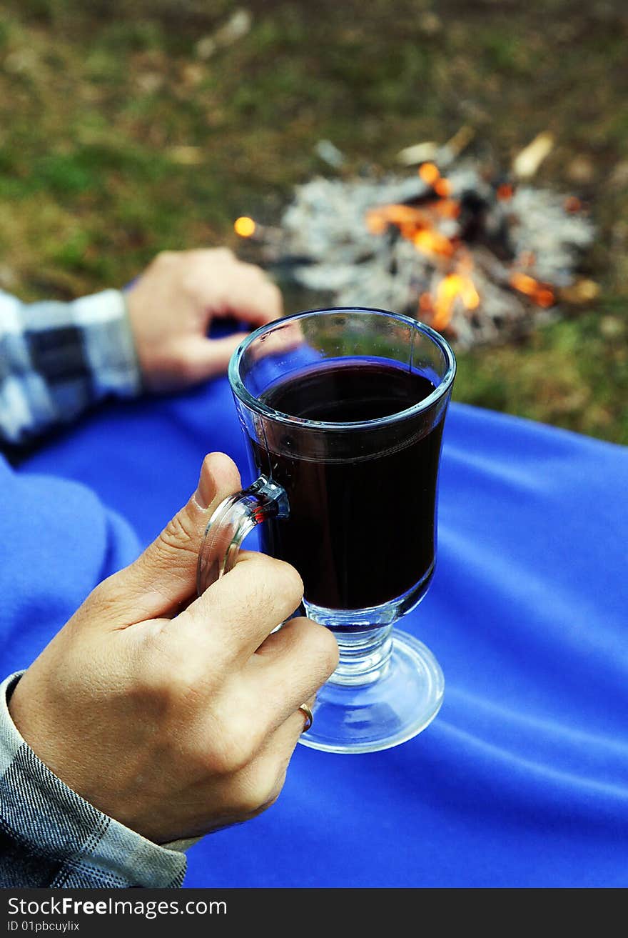
[[[208,522],[198,588],[232,568],[256,524],[262,551],[299,571],[307,616],[333,630],[340,652],[301,736],[306,746],[388,749],[441,708],[438,661],[393,624],[424,598],[434,573],[455,374],[437,332],[384,310],[287,316],[252,332],[232,356],[256,481]]]

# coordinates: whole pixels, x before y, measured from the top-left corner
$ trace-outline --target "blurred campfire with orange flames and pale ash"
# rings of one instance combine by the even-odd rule
[[[597,293],[576,273],[594,234],[583,206],[525,178],[540,149],[502,177],[445,146],[411,175],[315,178],[278,228],[241,218],[235,231],[321,303],[406,312],[463,348],[507,340]]]

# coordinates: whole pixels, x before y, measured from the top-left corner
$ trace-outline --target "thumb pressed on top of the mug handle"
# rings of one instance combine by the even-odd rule
[[[136,561],[102,584],[119,628],[176,613],[181,603],[196,596],[196,567],[207,522],[219,503],[240,488],[240,474],[229,456],[205,456],[187,505]]]

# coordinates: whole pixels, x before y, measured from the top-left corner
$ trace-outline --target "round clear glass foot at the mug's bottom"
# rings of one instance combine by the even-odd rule
[[[299,742],[325,752],[377,752],[426,729],[441,709],[444,678],[427,646],[394,629],[392,654],[377,680],[338,684],[318,693],[314,722]]]

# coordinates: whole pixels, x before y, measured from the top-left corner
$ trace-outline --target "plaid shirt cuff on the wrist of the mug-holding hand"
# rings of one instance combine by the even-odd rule
[[[186,858],[90,805],[24,742],[7,700],[21,674],[0,685],[0,886],[180,886]],[[174,846],[174,845],[173,845]]]

